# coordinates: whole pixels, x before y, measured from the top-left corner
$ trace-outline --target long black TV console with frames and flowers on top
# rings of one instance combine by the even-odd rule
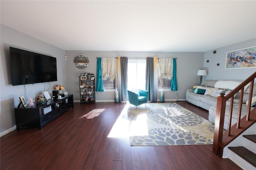
[[[20,130],[21,127],[38,127],[40,130],[43,125],[71,107],[74,108],[73,94],[65,95],[62,99],[48,100],[44,105],[34,104],[33,107],[28,105],[26,108],[14,108],[16,128]]]

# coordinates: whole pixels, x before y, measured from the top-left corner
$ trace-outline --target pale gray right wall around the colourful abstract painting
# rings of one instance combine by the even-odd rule
[[[207,70],[206,80],[238,80],[243,81],[248,76],[256,71],[256,68],[237,68],[237,69],[225,69],[226,53],[229,51],[236,51],[238,49],[244,49],[246,47],[252,47],[256,45],[256,39],[250,39],[226,47],[213,49],[207,51],[204,54],[204,68]],[[214,54],[213,51],[216,50]],[[207,60],[209,62],[207,63]],[[217,63],[220,63],[217,66]]]

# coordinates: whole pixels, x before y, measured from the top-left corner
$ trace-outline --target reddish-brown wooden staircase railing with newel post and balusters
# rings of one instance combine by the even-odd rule
[[[237,86],[234,90],[232,90],[226,96],[224,96],[224,94],[221,94],[218,97],[216,116],[215,116],[215,129],[214,129],[214,139],[213,139],[214,141],[213,141],[213,149],[212,149],[212,152],[214,152],[214,154],[218,156],[222,156],[223,148],[226,145],[228,145],[230,142],[232,142],[241,133],[243,133],[246,129],[248,129],[248,127],[250,127],[256,122],[256,108],[251,110],[252,92],[253,92],[255,78],[256,78],[256,72],[254,72],[250,77],[244,80],[241,84],[239,84],[239,86]],[[246,106],[247,113],[246,113],[246,116],[244,116],[241,119],[244,87],[248,83],[250,83],[250,94],[249,94],[248,106]],[[239,91],[240,91],[240,100],[239,100],[239,106],[238,106],[238,118],[237,118],[236,124],[234,124],[231,127],[234,95]],[[229,99],[230,99],[230,110],[229,110],[228,130],[223,133],[226,102]]]

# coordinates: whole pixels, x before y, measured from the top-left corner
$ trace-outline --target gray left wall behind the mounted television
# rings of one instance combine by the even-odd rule
[[[64,84],[68,88],[66,77],[65,51],[34,37],[0,25],[1,29],[1,65],[0,65],[0,133],[1,136],[16,128],[14,107],[20,103],[20,96],[34,98],[43,91],[52,92],[56,84]],[[9,47],[16,47],[57,58],[57,82],[28,84],[26,94],[24,86],[12,86],[11,63]]]

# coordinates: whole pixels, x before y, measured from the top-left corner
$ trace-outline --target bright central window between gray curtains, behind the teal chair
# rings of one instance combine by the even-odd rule
[[[139,88],[145,90],[146,84],[146,59],[128,59],[127,88]]]

